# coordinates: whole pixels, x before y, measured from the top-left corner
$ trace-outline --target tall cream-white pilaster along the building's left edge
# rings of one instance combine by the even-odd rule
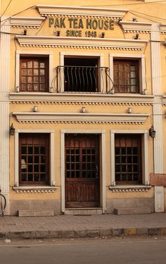
[[[2,18],[4,20],[5,18]],[[1,26],[1,32],[10,32],[8,21]],[[1,33],[0,37],[0,186],[6,196],[6,214],[9,213],[9,68],[10,34]]]

